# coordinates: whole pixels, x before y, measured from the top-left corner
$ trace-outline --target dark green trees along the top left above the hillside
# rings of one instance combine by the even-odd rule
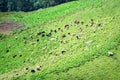
[[[32,11],[72,0],[0,0],[0,11]]]

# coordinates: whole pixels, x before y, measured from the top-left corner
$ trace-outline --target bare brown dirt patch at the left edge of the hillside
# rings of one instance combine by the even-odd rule
[[[0,33],[9,34],[13,29],[19,29],[22,24],[13,21],[6,21],[0,24]]]

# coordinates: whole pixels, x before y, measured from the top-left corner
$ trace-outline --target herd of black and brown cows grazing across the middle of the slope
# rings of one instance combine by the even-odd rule
[[[85,23],[83,21],[80,22],[78,20],[75,20],[74,24],[75,25],[84,25]],[[89,22],[89,25],[86,24],[85,26],[86,27],[88,27],[88,26],[92,27],[92,26],[94,26],[94,24],[95,24],[94,20],[91,19],[90,22]],[[97,24],[97,26],[102,27],[102,24],[99,23],[99,24]],[[53,41],[53,40],[56,40],[56,38],[52,38],[53,37],[52,35],[55,35],[55,34],[57,34],[59,32],[63,33],[64,30],[68,30],[68,29],[70,29],[70,27],[71,26],[69,24],[66,24],[66,25],[64,25],[64,28],[59,27],[59,28],[54,29],[54,30],[51,29],[49,32],[47,32],[47,31],[39,31],[39,32],[36,33],[36,36],[41,36],[41,38],[43,38],[43,37],[47,38],[48,37],[48,38],[51,38],[50,39],[51,41]],[[82,31],[81,27],[80,27],[80,31]],[[64,38],[67,37],[67,35],[72,35],[73,37],[75,36],[75,38],[78,39],[78,40],[80,39],[80,34],[76,34],[76,33],[73,34],[71,32],[68,32],[67,34],[65,34],[65,33],[62,34],[61,38],[64,39]],[[29,36],[30,39],[34,39],[34,37],[35,36],[32,36],[32,35]],[[15,39],[18,40],[17,37],[15,37]],[[25,45],[27,44],[27,40],[28,40],[27,37],[23,37],[23,43]],[[40,39],[36,39],[36,42],[39,42],[39,41],[40,41]],[[60,43],[66,43],[66,42],[64,42],[63,40],[60,40]],[[8,53],[8,52],[9,52],[9,49],[6,50],[6,53]],[[64,53],[66,53],[66,51],[63,50],[63,51],[61,51],[61,53],[64,54]],[[13,58],[16,58],[17,56],[22,57],[23,55],[22,54],[21,55],[14,54]],[[42,69],[42,66],[37,66],[36,69],[32,69],[30,71],[31,71],[31,73],[35,73],[36,71],[39,71],[41,69]],[[29,70],[29,68],[27,67],[25,70]],[[16,74],[16,75],[18,75],[18,74]]]

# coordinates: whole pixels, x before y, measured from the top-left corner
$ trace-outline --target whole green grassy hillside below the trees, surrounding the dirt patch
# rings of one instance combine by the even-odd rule
[[[1,23],[24,24],[1,37],[0,80],[119,80],[119,3],[79,0],[0,13]]]

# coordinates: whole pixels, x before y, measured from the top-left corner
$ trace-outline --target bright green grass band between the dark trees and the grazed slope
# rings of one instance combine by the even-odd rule
[[[11,12],[11,13],[0,13],[1,19],[4,20],[14,20],[25,24],[26,27],[33,27],[39,25],[40,23],[48,22],[52,19],[56,19],[68,13],[83,9],[85,7],[99,4],[99,0],[79,0],[69,2],[69,4],[62,4],[56,7],[51,7],[47,9],[40,9],[38,11],[33,11],[29,13],[23,12]],[[0,22],[3,21],[0,19]]]

